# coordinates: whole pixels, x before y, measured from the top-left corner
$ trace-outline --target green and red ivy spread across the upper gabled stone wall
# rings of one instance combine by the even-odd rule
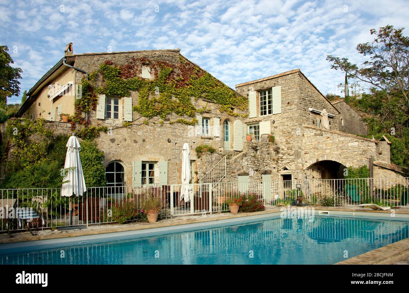
[[[142,65],[147,65],[153,70],[154,79],[137,77]],[[100,75],[102,86],[94,88],[94,81]],[[178,65],[166,61],[151,61],[146,58],[134,58],[125,65],[114,65],[112,61],[105,61],[98,72],[90,75],[90,81],[83,81],[84,101],[90,101],[92,107],[96,106],[97,94],[108,96],[130,96],[131,91],[139,92],[137,105],[133,110],[147,120],[159,116],[160,124],[166,116],[175,113],[189,118],[178,118],[170,123],[194,125],[196,113],[202,113],[203,108],[196,108],[192,104],[203,98],[214,102],[222,113],[238,116],[234,109],[247,109],[247,99],[237,95],[221,81],[218,81],[195,65],[185,61],[182,57]],[[87,90],[84,88],[88,88]],[[85,103],[79,102],[79,110],[85,108]],[[246,117],[247,115],[242,115]]]

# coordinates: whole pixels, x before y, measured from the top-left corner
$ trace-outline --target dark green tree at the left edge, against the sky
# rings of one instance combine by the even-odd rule
[[[7,98],[20,94],[21,68],[13,68],[14,63],[9,53],[9,47],[0,46],[0,108],[6,108]]]

